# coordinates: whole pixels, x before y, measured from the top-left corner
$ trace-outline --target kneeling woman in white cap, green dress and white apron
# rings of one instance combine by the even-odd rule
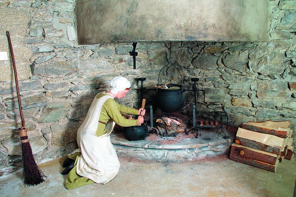
[[[76,154],[66,159],[67,162],[73,161],[73,163],[70,162],[70,165],[62,172],[62,174],[67,174],[70,171],[65,183],[67,189],[94,182],[105,184],[112,180],[120,167],[115,149],[110,142],[110,133],[115,123],[128,127],[144,121],[142,116],[139,116],[138,120],[128,120],[120,114],[123,112],[144,115],[144,109],[133,109],[114,101],[114,98],[125,97],[131,83],[125,77],[117,76],[110,81],[109,85],[110,91],[96,95],[85,120],[78,129],[79,149],[75,151]],[[66,161],[63,167],[67,166]]]

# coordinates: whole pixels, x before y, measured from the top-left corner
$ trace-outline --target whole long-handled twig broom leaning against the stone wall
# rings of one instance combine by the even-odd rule
[[[41,169],[37,166],[35,159],[33,157],[32,148],[28,140],[27,130],[25,127],[25,120],[22,115],[22,104],[20,102],[20,91],[19,91],[18,81],[17,81],[17,69],[15,66],[15,58],[12,51],[12,44],[10,40],[9,31],[6,32],[6,35],[8,38],[9,49],[12,57],[13,70],[15,73],[15,85],[17,89],[17,100],[20,108],[20,117],[22,119],[22,127],[19,128],[19,134],[20,134],[20,139],[22,143],[22,161],[24,166],[23,177],[25,177],[24,183],[25,185],[29,185],[29,186],[38,185],[39,183],[44,182],[44,178],[46,178],[46,176],[41,171]]]

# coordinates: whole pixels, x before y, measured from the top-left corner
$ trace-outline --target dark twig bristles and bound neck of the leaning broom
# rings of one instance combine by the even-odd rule
[[[24,165],[23,176],[25,178],[25,185],[33,186],[44,182],[46,176],[37,166],[35,159],[33,157],[32,148],[28,141],[28,136],[20,137],[22,142],[22,161]]]

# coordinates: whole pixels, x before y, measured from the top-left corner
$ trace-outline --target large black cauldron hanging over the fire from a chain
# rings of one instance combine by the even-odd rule
[[[185,95],[182,85],[168,84],[168,89],[158,89],[156,93],[156,101],[159,109],[163,112],[177,112],[184,106]],[[179,87],[171,89],[171,87]]]

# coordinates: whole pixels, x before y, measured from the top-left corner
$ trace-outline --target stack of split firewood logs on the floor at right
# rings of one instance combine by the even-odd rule
[[[231,145],[230,159],[276,172],[281,160],[293,157],[293,130],[289,121],[243,123]]]

